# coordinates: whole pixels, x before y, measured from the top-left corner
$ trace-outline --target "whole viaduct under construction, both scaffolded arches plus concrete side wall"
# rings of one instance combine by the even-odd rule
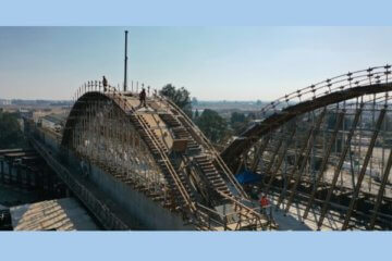
[[[391,229],[391,66],[343,74],[261,109],[218,152],[171,100],[84,84],[60,134],[35,150],[107,229],[278,228],[235,178],[311,229]]]

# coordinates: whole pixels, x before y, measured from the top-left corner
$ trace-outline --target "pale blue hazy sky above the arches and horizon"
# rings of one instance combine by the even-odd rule
[[[392,63],[392,27],[0,27],[0,98],[70,99],[89,79],[186,87],[204,100],[272,100]]]

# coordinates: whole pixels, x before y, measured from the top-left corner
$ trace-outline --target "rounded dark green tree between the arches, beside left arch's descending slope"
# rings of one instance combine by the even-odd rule
[[[226,121],[218,112],[209,109],[203,111],[201,115],[196,120],[196,124],[206,137],[215,144],[225,140],[229,134]]]

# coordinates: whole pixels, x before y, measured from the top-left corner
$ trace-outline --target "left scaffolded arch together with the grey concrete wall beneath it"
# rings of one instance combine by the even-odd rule
[[[142,108],[137,94],[88,82],[63,132],[49,136],[35,127],[34,147],[107,229],[272,225],[209,140],[163,97],[148,95]]]

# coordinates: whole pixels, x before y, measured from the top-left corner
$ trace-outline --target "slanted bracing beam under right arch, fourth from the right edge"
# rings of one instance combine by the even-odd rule
[[[323,173],[324,173],[324,171],[327,169],[329,157],[331,154],[332,147],[333,147],[333,145],[334,145],[334,142],[336,140],[339,129],[340,129],[340,127],[341,127],[341,125],[343,123],[343,119],[344,119],[344,112],[339,113],[338,119],[336,119],[336,124],[335,124],[335,127],[334,127],[333,133],[332,133],[332,137],[331,137],[330,142],[329,142],[329,145],[327,147],[326,154],[322,158],[321,166],[320,166],[319,173],[317,175],[316,183],[314,185],[314,188],[311,190],[311,195],[309,197],[309,201],[307,202],[307,206],[306,206],[306,209],[305,209],[305,212],[304,212],[304,215],[303,215],[304,220],[307,217],[307,215],[309,213],[309,210],[310,210],[310,207],[313,204],[313,201],[315,200],[318,186],[320,185],[322,175],[323,175]]]

